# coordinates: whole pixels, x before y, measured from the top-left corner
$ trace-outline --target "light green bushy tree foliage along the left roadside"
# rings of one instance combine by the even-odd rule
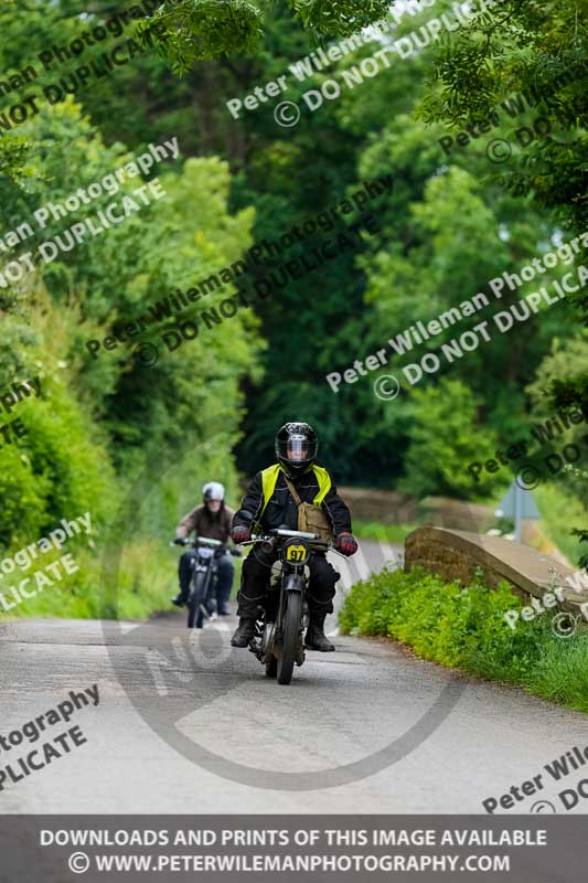
[[[117,184],[114,171],[133,155],[120,142],[106,147],[72,100],[42,108],[25,124],[24,135],[35,146],[25,157],[31,174],[24,181],[0,182],[4,228],[12,228],[14,220],[32,221],[33,210],[50,200],[64,202],[78,187],[98,181],[104,192],[66,217],[50,215],[43,227],[33,222],[33,234],[19,251],[36,255],[41,243],[57,235],[63,241],[64,231],[81,216],[94,217],[95,230],[96,213],[109,203],[118,204],[120,216],[124,195],[143,183],[132,178]],[[85,345],[89,339],[103,341],[116,320],[149,316],[170,291],[197,285],[236,262],[250,244],[252,211],[231,214],[227,209],[226,163],[216,158],[180,162],[158,169],[164,199],[127,216],[108,235],[88,233],[51,263],[39,259],[34,272],[4,289],[0,387],[40,375],[42,393],[39,401],[20,405],[28,434],[19,449],[0,449],[3,543],[15,542],[23,532],[35,534],[81,499],[92,504],[96,522],[107,522],[117,477],[120,491],[161,449],[180,458],[194,439],[206,438],[212,418],[224,408],[232,416],[215,449],[184,465],[174,489],[185,496],[188,507],[194,498],[190,479],[203,480],[206,464],[218,458],[225,460],[227,480],[236,483],[232,448],[238,437],[239,382],[255,375],[258,352],[250,311],[240,310],[211,328],[200,320],[197,338],[173,352],[162,342],[162,323],[148,326],[141,340],[158,347],[157,369],[133,358],[135,341],[116,351],[101,348],[99,358]],[[106,181],[118,191],[108,190]],[[233,286],[222,295],[203,295],[182,311],[181,321],[197,321],[204,309],[212,310],[231,294]],[[162,479],[160,487],[165,498],[169,481]]]

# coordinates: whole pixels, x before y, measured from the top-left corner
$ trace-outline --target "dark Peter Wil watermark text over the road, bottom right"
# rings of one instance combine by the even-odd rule
[[[569,751],[564,752],[559,757],[555,757],[550,763],[544,764],[543,768],[547,776],[553,781],[560,781],[562,779],[570,776],[573,773],[581,770],[582,767],[588,765],[588,745],[579,748],[574,745]],[[584,770],[588,774],[588,769]],[[528,779],[521,783],[521,785],[513,785],[505,794],[500,797],[487,797],[482,800],[482,806],[488,813],[494,815],[496,809],[518,809],[523,811],[518,804],[526,800],[527,797],[536,797],[539,791],[545,790],[546,786],[550,785],[549,779],[543,774],[538,773],[536,776],[531,776]],[[574,809],[578,806],[580,798],[588,799],[588,778],[582,778],[574,787],[565,788],[557,795],[559,805],[566,811]],[[555,797],[553,799],[556,799]],[[534,801],[528,812],[557,812],[556,806],[542,797],[541,800]]]

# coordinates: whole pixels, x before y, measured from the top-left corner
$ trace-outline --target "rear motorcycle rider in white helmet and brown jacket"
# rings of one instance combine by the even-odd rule
[[[220,481],[209,481],[202,488],[202,506],[197,506],[180,521],[175,529],[174,543],[182,545],[192,531],[196,536],[205,536],[209,540],[221,540],[228,543],[231,539],[231,522],[234,512],[225,506],[225,489]],[[224,549],[218,546],[217,568],[216,568],[216,607],[220,616],[228,616],[226,608],[233,586],[235,565],[227,554],[226,545]],[[172,604],[182,607],[190,597],[190,581],[192,578],[192,562],[196,556],[195,549],[189,549],[180,558],[178,565],[178,577],[180,581],[180,594],[172,598]]]

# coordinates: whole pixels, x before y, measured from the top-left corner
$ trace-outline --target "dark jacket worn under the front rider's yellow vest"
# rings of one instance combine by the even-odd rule
[[[302,502],[311,503],[319,492],[319,482],[313,472],[306,472],[302,476],[290,479],[290,481],[295,486]],[[249,490],[243,498],[240,509],[235,513],[233,526],[245,524],[247,528],[250,528],[252,520],[254,522],[258,521],[264,496],[261,487],[261,472],[257,472],[249,486]],[[351,533],[350,511],[336,492],[334,485],[331,485],[329,493],[322,502],[322,509],[327,513],[335,535],[344,532]],[[276,489],[271,494],[259,524],[264,530],[285,525],[291,531],[298,530],[298,507],[286,485],[281,470],[276,482]]]

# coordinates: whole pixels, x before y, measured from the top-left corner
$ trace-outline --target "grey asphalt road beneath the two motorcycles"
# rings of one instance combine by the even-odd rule
[[[377,570],[375,543],[344,573]],[[345,565],[343,563],[343,570]],[[586,719],[514,689],[456,678],[397,646],[340,637],[309,653],[290,687],[229,647],[232,616],[188,632],[183,615],[148,624],[3,624],[0,735],[98,687],[99,704],[0,751],[1,770],[68,727],[86,742],[0,790],[0,812],[482,812],[539,773],[539,800],[581,778],[543,769],[586,745]],[[88,700],[89,701],[89,700]],[[78,700],[82,703],[82,700]],[[17,740],[18,736],[14,736]],[[549,784],[550,781],[550,784]],[[587,811],[580,800],[576,811]],[[537,810],[534,810],[537,811]]]

